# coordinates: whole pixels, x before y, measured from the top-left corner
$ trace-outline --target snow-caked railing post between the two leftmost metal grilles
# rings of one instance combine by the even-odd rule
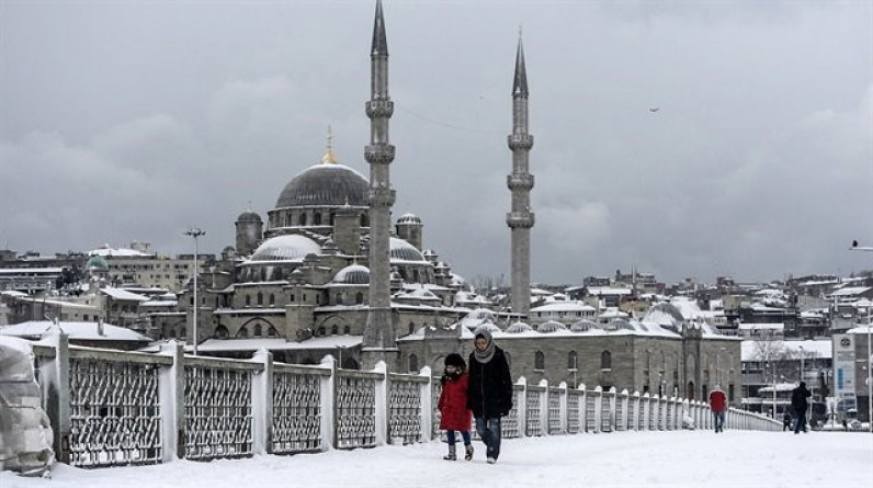
[[[158,396],[163,417],[163,459],[167,463],[185,457],[185,353],[183,344],[170,340],[160,353],[173,359],[170,367],[158,375]]]

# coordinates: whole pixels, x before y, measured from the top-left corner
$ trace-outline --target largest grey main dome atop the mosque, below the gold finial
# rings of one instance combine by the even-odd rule
[[[279,194],[276,208],[322,205],[366,206],[370,184],[361,173],[348,166],[321,163],[304,170]]]

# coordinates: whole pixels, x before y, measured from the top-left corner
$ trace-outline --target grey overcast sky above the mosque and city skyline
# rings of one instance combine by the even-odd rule
[[[369,174],[374,4],[0,0],[0,248],[217,253],[328,125]],[[521,24],[533,281],[872,269],[871,4],[385,0],[394,217],[509,282]]]

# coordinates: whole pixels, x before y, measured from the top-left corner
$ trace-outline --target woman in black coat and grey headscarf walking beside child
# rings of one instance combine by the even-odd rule
[[[476,329],[473,345],[467,405],[485,443],[488,464],[495,464],[500,456],[500,418],[512,410],[512,376],[503,350],[495,344],[488,329]]]

